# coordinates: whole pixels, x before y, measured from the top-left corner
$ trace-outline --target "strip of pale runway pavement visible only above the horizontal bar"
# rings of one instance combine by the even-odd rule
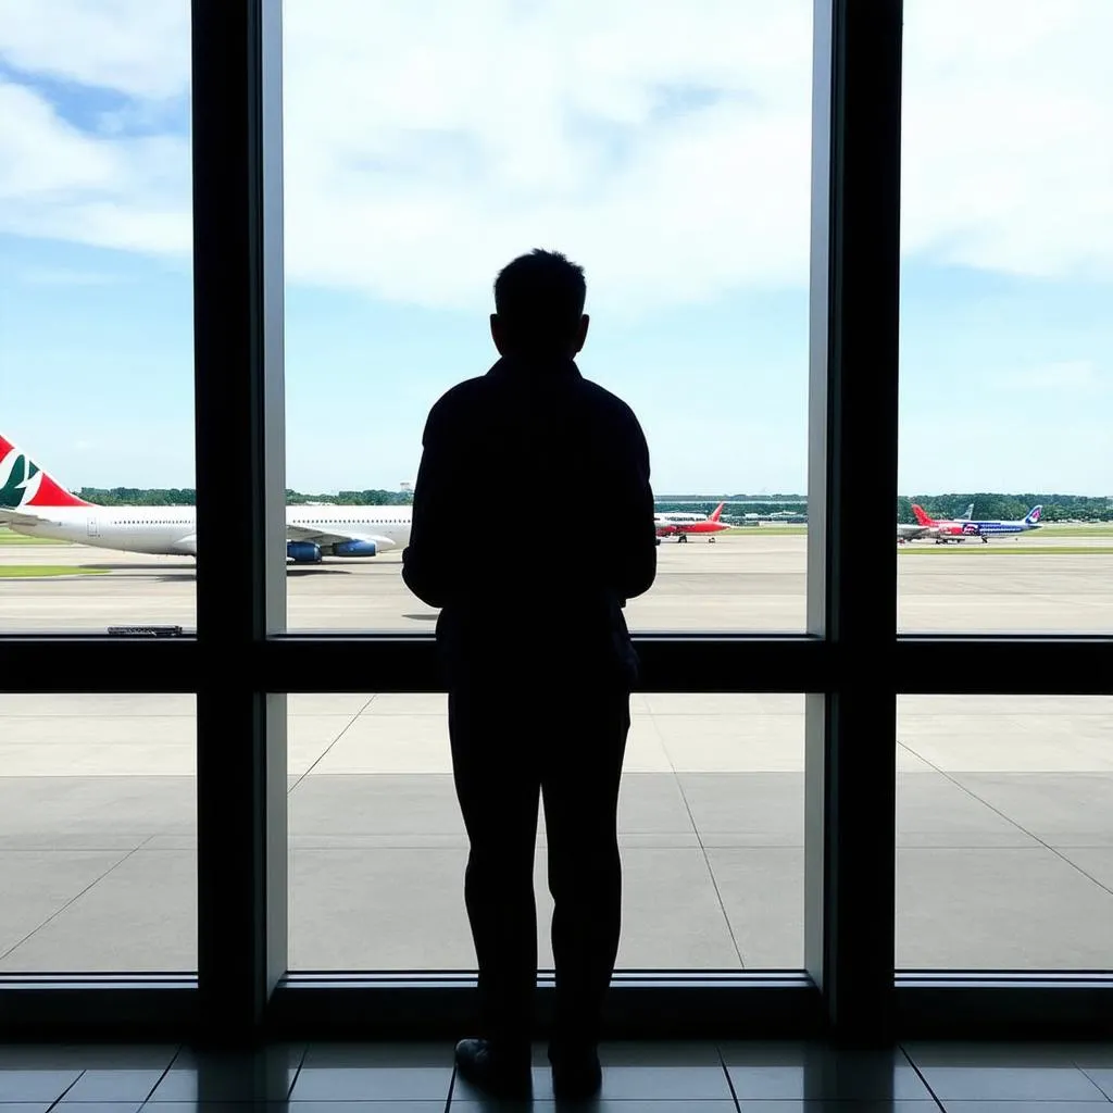
[[[604,541],[569,546],[591,560]],[[717,543],[662,543],[652,590],[632,600],[636,630],[802,631],[807,538],[732,535]],[[1067,552],[1057,551],[1061,548]],[[1020,551],[1017,551],[1020,550]],[[1082,551],[1080,551],[1082,550]],[[1086,551],[1092,550],[1092,552]],[[500,545],[491,546],[500,559]],[[83,545],[0,545],[4,564],[72,563],[73,579],[0,579],[0,629],[99,629],[195,622],[188,558],[144,556]],[[432,629],[435,613],[402,583],[401,556],[290,565],[293,630]],[[109,575],[81,578],[82,567]],[[1113,632],[1113,534],[1001,539],[989,545],[915,544],[898,550],[898,620],[924,631]]]

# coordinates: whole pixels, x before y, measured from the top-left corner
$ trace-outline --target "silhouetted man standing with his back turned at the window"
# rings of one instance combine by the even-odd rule
[[[482,1038],[456,1046],[489,1092],[530,1091],[533,850],[544,801],[559,1096],[598,1090],[618,953],[619,777],[637,657],[622,615],[657,571],[649,451],[630,407],[580,374],[583,270],[535,250],[494,284],[501,358],[432,408],[403,578],[442,608],[464,898]]]

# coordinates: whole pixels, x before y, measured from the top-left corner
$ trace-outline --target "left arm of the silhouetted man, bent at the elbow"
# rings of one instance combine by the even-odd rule
[[[422,457],[414,483],[410,544],[402,550],[402,579],[430,607],[444,607],[453,595],[451,539],[453,469],[443,401],[430,411],[422,434]]]

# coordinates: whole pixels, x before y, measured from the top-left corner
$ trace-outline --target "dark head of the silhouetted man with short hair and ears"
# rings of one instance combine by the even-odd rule
[[[491,336],[501,355],[574,356],[588,335],[583,267],[534,248],[494,280]]]

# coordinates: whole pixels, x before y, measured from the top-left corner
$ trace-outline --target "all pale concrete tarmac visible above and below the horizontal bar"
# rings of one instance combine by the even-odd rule
[[[664,543],[630,624],[799,631],[805,552],[758,531]],[[0,565],[37,562],[111,574],[0,580],[4,630],[193,624],[191,561],[0,546]],[[1100,541],[914,545],[898,569],[906,629],[1113,632]],[[295,568],[288,584],[290,629],[435,618],[396,555]],[[632,711],[619,967],[799,968],[804,698],[638,693]],[[293,695],[288,712],[290,968],[472,968],[444,697]],[[899,700],[900,968],[1113,966],[1111,742],[1113,697]],[[196,968],[194,774],[189,696],[0,696],[0,973]],[[542,821],[548,966],[543,846]]]

